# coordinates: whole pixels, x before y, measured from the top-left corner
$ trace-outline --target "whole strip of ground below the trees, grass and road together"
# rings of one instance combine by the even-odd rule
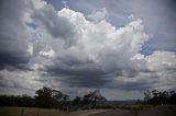
[[[64,113],[58,109],[0,107],[0,116],[176,116],[176,106],[119,106],[116,109],[87,109]]]

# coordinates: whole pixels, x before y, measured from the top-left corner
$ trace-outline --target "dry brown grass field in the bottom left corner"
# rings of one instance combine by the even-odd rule
[[[0,107],[0,116],[61,116],[58,109],[31,107]]]

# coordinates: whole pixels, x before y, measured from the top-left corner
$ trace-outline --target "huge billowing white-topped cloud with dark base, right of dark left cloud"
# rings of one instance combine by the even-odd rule
[[[31,74],[23,72],[31,80],[29,88],[36,83],[124,90],[175,88],[176,54],[142,55],[142,46],[150,35],[141,19],[116,27],[106,20],[106,9],[94,11],[89,20],[80,12],[66,8],[56,11],[46,2],[40,3],[29,12],[31,26],[26,31],[31,39],[24,38],[30,46],[25,53],[31,54],[26,63],[32,68],[30,72],[36,74],[30,78]],[[4,72],[14,73],[1,70],[3,83],[19,82]]]

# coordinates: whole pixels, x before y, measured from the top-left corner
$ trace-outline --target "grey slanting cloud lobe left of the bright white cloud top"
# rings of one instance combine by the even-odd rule
[[[67,19],[58,16],[57,12],[50,4],[35,10],[32,18],[42,23],[54,38],[67,39],[75,35],[74,26]]]

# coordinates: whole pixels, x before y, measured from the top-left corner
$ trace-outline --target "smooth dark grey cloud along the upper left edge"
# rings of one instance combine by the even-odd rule
[[[0,68],[21,67],[29,61],[29,37],[24,21],[28,2],[23,0],[1,0],[0,3]]]

